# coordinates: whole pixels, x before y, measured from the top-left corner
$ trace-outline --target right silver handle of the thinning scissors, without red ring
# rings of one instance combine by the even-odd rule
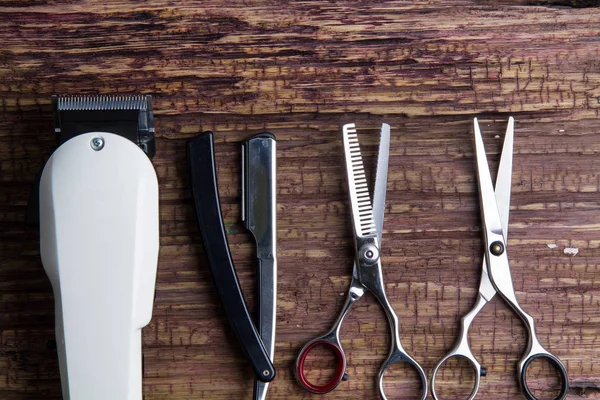
[[[387,397],[383,390],[383,375],[385,371],[394,364],[398,363],[407,363],[411,365],[414,369],[417,370],[419,377],[421,378],[421,387],[423,388],[421,400],[425,400],[427,398],[427,375],[425,375],[425,371],[416,362],[402,347],[400,343],[400,329],[398,327],[398,316],[394,312],[392,305],[389,303],[387,296],[385,295],[385,290],[383,285],[377,286],[376,288],[369,288],[373,295],[379,300],[381,303],[383,310],[385,311],[385,315],[388,318],[388,322],[390,324],[390,329],[392,333],[392,344],[388,357],[383,362],[381,369],[379,370],[379,376],[377,378],[378,387],[379,387],[379,396],[383,400],[387,400]]]

